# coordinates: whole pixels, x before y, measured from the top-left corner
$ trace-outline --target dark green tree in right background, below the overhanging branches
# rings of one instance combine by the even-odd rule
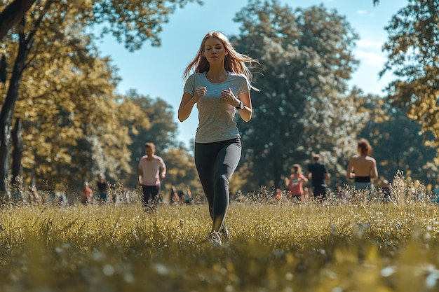
[[[379,181],[391,181],[403,171],[408,180],[417,179],[426,186],[439,183],[438,168],[432,163],[435,150],[423,145],[421,126],[407,118],[404,109],[386,104],[381,97],[366,97],[365,108],[370,109],[370,120],[360,137],[368,139],[374,148]]]

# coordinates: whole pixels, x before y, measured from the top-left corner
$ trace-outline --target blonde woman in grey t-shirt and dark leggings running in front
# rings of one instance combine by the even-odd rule
[[[257,61],[236,52],[221,32],[209,32],[184,70],[186,83],[178,119],[183,122],[189,118],[196,104],[195,165],[212,218],[212,244],[229,239],[224,224],[229,207],[229,180],[241,159],[235,113],[245,122],[252,118],[252,74],[246,62]]]

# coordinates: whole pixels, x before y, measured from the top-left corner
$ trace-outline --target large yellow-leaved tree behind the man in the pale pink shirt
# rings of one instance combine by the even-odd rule
[[[52,46],[32,55],[23,74],[20,94],[26,98],[18,100],[15,117],[23,120],[25,147],[23,160],[14,164],[32,174],[26,183],[50,177],[55,186],[77,188],[97,172],[118,178],[130,171],[126,123],[149,123],[137,106],[113,95],[118,78],[110,60],[91,55],[90,40],[74,36],[41,35],[35,49],[43,47],[40,40]]]

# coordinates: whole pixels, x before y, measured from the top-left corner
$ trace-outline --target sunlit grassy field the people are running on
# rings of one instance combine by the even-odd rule
[[[0,291],[439,291],[438,205],[397,199],[232,202],[222,246],[203,204],[3,207]]]

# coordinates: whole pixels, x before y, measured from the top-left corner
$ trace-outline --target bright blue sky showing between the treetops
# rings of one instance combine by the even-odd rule
[[[112,57],[119,68],[122,81],[117,90],[125,93],[136,89],[142,95],[160,97],[173,106],[175,121],[178,123],[178,139],[188,145],[194,138],[198,125],[198,111],[194,107],[191,116],[183,123],[177,120],[177,109],[182,98],[184,82],[182,75],[187,64],[193,60],[203,36],[212,30],[224,32],[227,36],[239,33],[239,23],[233,21],[238,11],[248,4],[247,0],[204,0],[199,6],[191,3],[177,9],[161,32],[161,47],[153,48],[144,43],[142,49],[128,52],[114,39],[107,38],[100,43],[103,56]],[[387,40],[384,27],[392,15],[407,5],[407,0],[380,0],[373,6],[372,0],[281,0],[291,8],[307,8],[323,4],[336,9],[360,36],[354,54],[360,65],[349,85],[356,85],[365,93],[384,95],[382,90],[391,81],[390,74],[379,79],[386,55],[381,53],[381,45]],[[241,52],[245,53],[245,52]],[[263,90],[263,88],[261,88]],[[251,123],[251,121],[250,121]]]

